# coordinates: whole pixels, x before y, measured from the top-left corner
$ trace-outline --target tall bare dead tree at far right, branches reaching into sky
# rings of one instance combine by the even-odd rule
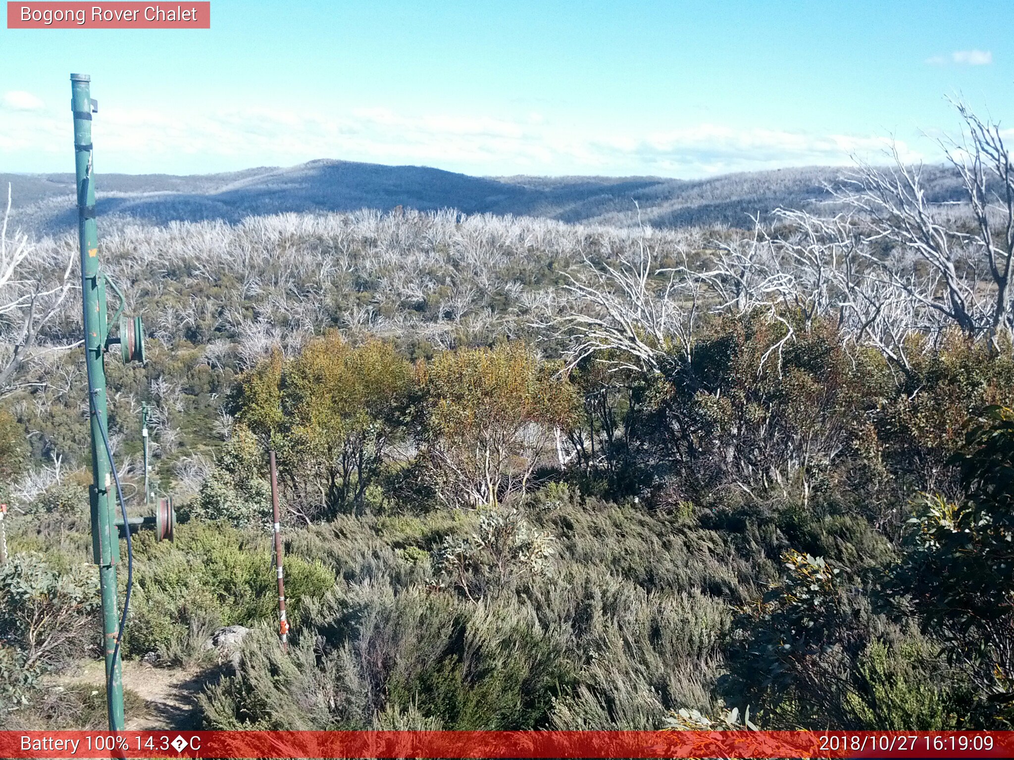
[[[961,178],[970,224],[930,200],[922,166],[907,166],[896,147],[887,168],[857,162],[843,187],[831,191],[861,217],[864,256],[883,284],[917,310],[936,312],[968,335],[988,334],[998,348],[1014,326],[1014,171],[999,125],[955,105],[961,138],[941,146]]]

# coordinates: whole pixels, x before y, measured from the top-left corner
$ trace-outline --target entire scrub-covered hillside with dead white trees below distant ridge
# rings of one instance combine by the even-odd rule
[[[974,134],[966,213],[894,166],[749,230],[103,223],[149,350],[106,361],[117,465],[137,509],[150,404],[180,517],[125,656],[214,672],[210,729],[1011,728],[1014,185]],[[48,680],[98,640],[76,239],[12,239],[2,719],[97,726]]]

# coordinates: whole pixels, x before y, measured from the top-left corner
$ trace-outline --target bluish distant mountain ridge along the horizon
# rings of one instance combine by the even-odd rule
[[[320,159],[291,167],[220,174],[97,174],[98,214],[156,224],[283,212],[388,211],[395,207],[465,214],[548,217],[566,222],[662,227],[749,226],[749,215],[828,200],[841,167],[724,174],[705,179],[656,176],[481,177],[426,166],[388,166]],[[926,167],[934,200],[959,198],[956,177]],[[37,232],[73,228],[74,175],[0,174],[11,182],[15,221]]]

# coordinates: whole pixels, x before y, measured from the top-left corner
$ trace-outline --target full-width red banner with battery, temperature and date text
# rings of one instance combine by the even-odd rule
[[[4,758],[1014,757],[1014,732],[0,732]]]

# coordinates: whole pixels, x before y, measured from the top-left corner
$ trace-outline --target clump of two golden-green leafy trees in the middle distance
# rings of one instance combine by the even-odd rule
[[[443,352],[413,372],[390,344],[353,347],[333,331],[240,377],[230,408],[278,452],[288,507],[307,521],[385,509],[382,476],[397,477],[387,454],[410,433],[425,454],[403,480],[421,475],[448,505],[495,506],[528,489],[574,420],[560,369],[512,343]]]

